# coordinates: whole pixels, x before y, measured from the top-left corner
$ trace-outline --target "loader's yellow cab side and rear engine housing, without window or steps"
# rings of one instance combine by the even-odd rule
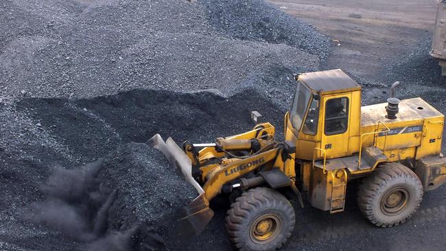
[[[316,158],[320,160],[323,158],[323,154],[322,152],[314,154],[314,148],[325,149],[325,145],[328,144],[331,144],[331,148],[325,149],[327,159],[358,153],[360,152],[362,134],[384,130],[383,126],[379,127],[379,121],[390,128],[390,132],[387,135],[384,132],[382,134],[364,135],[362,137],[362,149],[375,145],[383,150],[390,162],[440,154],[444,115],[423,99],[418,97],[402,100],[399,104],[397,119],[387,119],[387,104],[360,107],[359,91],[354,91],[351,95],[345,93],[327,95],[327,97],[322,97],[322,100],[336,97],[351,97],[348,130],[343,134],[330,136],[324,134],[325,107],[323,103],[320,106],[319,126],[316,135],[297,132],[292,128],[289,116],[285,116],[287,121],[285,139],[297,141],[297,158],[303,160]],[[355,106],[356,104],[357,106]],[[418,130],[418,128],[421,129]]]

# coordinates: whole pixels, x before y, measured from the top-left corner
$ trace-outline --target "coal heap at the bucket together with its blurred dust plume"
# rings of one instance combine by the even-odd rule
[[[94,163],[56,169],[40,187],[30,221],[56,228],[86,250],[175,250],[178,213],[198,193],[165,156],[121,145]]]

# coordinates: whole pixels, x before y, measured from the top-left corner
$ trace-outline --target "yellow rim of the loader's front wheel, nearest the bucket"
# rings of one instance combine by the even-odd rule
[[[277,215],[262,215],[251,225],[250,238],[255,243],[268,243],[279,235],[280,230],[281,220]]]

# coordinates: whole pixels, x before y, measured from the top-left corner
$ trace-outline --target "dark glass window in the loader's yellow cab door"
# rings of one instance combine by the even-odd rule
[[[349,123],[349,99],[337,97],[325,102],[325,135],[347,132]]]

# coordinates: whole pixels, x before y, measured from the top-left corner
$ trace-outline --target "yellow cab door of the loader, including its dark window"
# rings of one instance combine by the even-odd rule
[[[327,158],[347,156],[349,152],[349,124],[351,93],[322,97],[321,148]]]

